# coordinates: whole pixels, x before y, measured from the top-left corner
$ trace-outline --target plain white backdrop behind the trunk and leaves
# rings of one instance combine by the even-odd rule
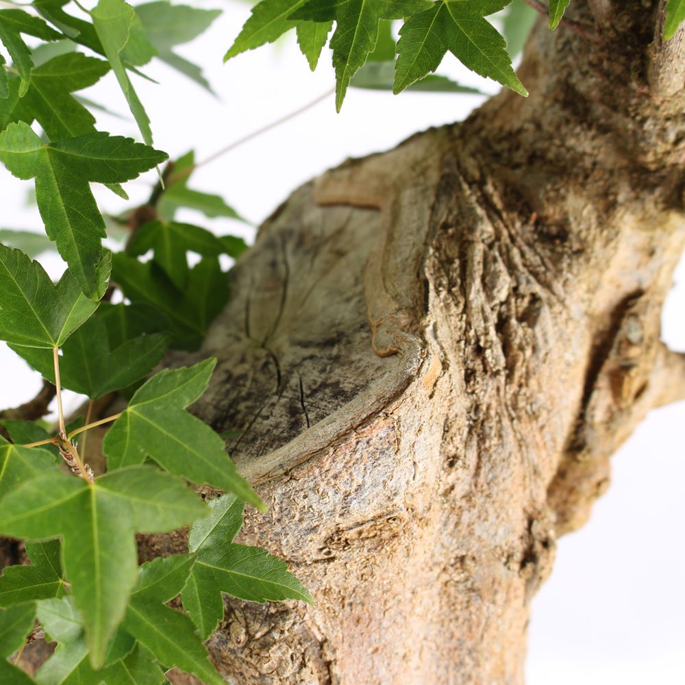
[[[133,77],[152,121],[155,145],[172,158],[194,148],[196,159],[202,160],[315,99],[334,83],[327,51],[312,74],[294,36],[223,65],[223,53],[249,9],[221,0],[201,6],[222,8],[225,15],[210,32],[179,52],[206,67],[219,98],[161,63],[144,69],[160,86]],[[449,56],[440,71],[488,92],[496,90],[493,84],[465,73]],[[127,114],[112,75],[86,95]],[[481,97],[471,95],[393,97],[350,90],[341,114],[335,113],[329,97],[199,169],[190,185],[219,192],[257,225],[292,189],[329,166],[348,156],[393,147],[431,125],[463,119],[480,101]],[[103,117],[100,127],[112,134],[139,137],[129,117]],[[132,199],[142,201],[153,182],[155,176],[149,174],[126,187]],[[0,227],[42,227],[38,212],[25,201],[31,186],[0,170]],[[99,190],[97,197],[110,212],[123,208],[107,191]],[[252,228],[224,219],[210,222],[192,212],[180,218],[211,224],[219,232],[253,236]],[[55,260],[46,257],[42,261],[51,273],[60,271]],[[664,314],[664,339],[677,349],[685,349],[684,301],[682,287],[673,293]],[[40,379],[4,343],[0,369],[0,407],[27,400],[40,387]],[[551,579],[534,600],[529,685],[685,683],[681,421],[685,423],[685,403],[652,412],[614,457],[612,487],[595,506],[588,525],[560,540]]]

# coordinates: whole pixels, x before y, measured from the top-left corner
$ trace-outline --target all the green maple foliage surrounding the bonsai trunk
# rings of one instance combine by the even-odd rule
[[[569,2],[550,0],[550,27],[564,22]],[[0,161],[34,182],[46,234],[0,232],[0,339],[54,384],[59,414],[49,430],[3,422],[10,440],[0,437],[0,534],[24,540],[32,565],[0,577],[0,680],[153,685],[177,667],[221,683],[203,640],[223,618],[223,594],[256,602],[312,597],[282,560],[234,542],[245,503],[262,510],[264,503],[222,437],[187,410],[208,386],[214,360],[151,375],[167,349],[199,348],[229,297],[221,260],[246,246],[177,220],[179,208],[240,216],[223,198],[190,187],[192,151],[159,169],[167,155],[152,147],[130,74],[159,59],[210,88],[175,48],[219,10],[162,0],[67,5],[34,0],[0,10]],[[685,2],[666,8],[670,38]],[[475,92],[434,73],[447,51],[526,95],[512,58],[531,23],[521,0],[262,0],[225,58],[295,28],[311,69],[329,43],[338,110],[349,86]],[[143,142],[97,130],[99,105],[75,95],[110,72]],[[112,255],[90,184],[126,197],[120,184],[155,168],[160,182],[145,211],[125,217],[127,244]],[[66,263],[56,283],[32,261],[50,247]],[[115,294],[125,301],[110,303]],[[86,399],[84,416],[69,428],[62,388]],[[95,401],[114,394],[125,408],[93,415]],[[101,425],[110,427],[102,453],[91,447],[91,468],[87,436]],[[228,494],[208,504],[190,484]],[[138,565],[136,534],[182,526],[190,526],[187,553]],[[168,606],[176,597],[184,610]],[[58,647],[32,678],[8,659],[17,660],[36,620]]]

